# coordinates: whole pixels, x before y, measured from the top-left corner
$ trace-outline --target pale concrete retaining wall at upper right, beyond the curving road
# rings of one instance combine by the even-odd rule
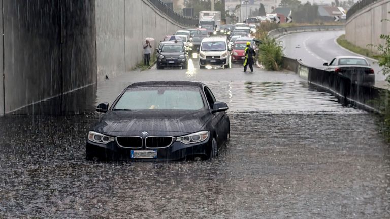
[[[390,34],[390,0],[377,1],[348,18],[345,25],[346,39],[354,45],[377,52],[375,47],[383,43],[379,36]],[[383,20],[383,21],[382,21]]]

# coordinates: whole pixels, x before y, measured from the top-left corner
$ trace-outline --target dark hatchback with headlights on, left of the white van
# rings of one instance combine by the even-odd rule
[[[157,57],[157,69],[182,67],[187,69],[188,54],[182,43],[164,44]]]

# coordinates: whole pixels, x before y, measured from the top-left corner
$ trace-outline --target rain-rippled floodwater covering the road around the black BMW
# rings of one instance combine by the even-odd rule
[[[231,140],[218,158],[85,160],[96,103],[131,82],[172,79],[202,81],[229,104]],[[78,92],[57,102],[76,115],[0,118],[0,218],[390,217],[389,150],[376,116],[295,74],[151,69]]]

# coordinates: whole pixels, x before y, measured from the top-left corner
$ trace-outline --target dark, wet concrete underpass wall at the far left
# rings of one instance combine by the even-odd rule
[[[96,82],[93,0],[3,4],[5,113]]]

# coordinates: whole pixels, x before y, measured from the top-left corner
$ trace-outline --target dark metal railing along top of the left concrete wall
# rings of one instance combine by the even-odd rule
[[[198,26],[198,19],[192,17],[186,17],[181,14],[176,13],[171,8],[167,6],[161,0],[148,0],[152,3],[159,11],[170,17],[172,20],[184,26]]]

